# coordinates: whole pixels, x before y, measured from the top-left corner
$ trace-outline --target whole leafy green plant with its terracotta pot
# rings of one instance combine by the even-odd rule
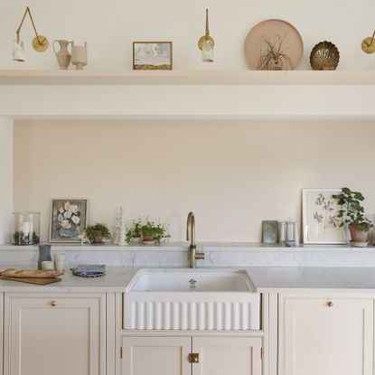
[[[361,202],[364,197],[361,192],[352,192],[349,188],[342,188],[342,192],[333,195],[334,199],[342,206],[337,217],[342,218],[340,226],[349,225],[351,231],[352,246],[365,247],[367,245],[367,236],[373,224],[370,219],[364,216],[364,208]]]

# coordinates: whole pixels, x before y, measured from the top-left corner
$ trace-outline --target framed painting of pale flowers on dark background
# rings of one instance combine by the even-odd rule
[[[86,228],[87,200],[52,200],[50,242],[80,242]]]

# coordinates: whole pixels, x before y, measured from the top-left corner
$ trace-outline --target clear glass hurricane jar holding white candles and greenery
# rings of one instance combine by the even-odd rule
[[[41,236],[40,212],[14,212],[13,219],[13,245],[36,245],[39,243]]]

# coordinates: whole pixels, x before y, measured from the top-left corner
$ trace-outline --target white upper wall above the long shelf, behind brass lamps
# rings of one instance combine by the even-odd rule
[[[375,68],[375,56],[361,52],[361,41],[374,29],[372,0],[2,0],[0,2],[0,69],[57,69],[54,53],[33,52],[33,30],[23,26],[27,61],[12,61],[12,41],[26,5],[32,8],[39,33],[50,41],[73,39],[88,42],[88,69],[131,69],[133,41],[173,41],[175,70],[246,70],[243,43],[256,23],[280,18],[293,23],[305,42],[304,61],[298,69],[310,69],[314,44],[334,42],[341,52],[339,68]],[[204,33],[204,8],[211,13],[211,35],[216,41],[216,60],[204,64],[196,47]]]

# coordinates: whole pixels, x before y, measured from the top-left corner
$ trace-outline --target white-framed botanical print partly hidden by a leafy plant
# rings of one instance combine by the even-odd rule
[[[344,244],[345,230],[333,199],[341,189],[303,189],[302,226],[305,244]]]

